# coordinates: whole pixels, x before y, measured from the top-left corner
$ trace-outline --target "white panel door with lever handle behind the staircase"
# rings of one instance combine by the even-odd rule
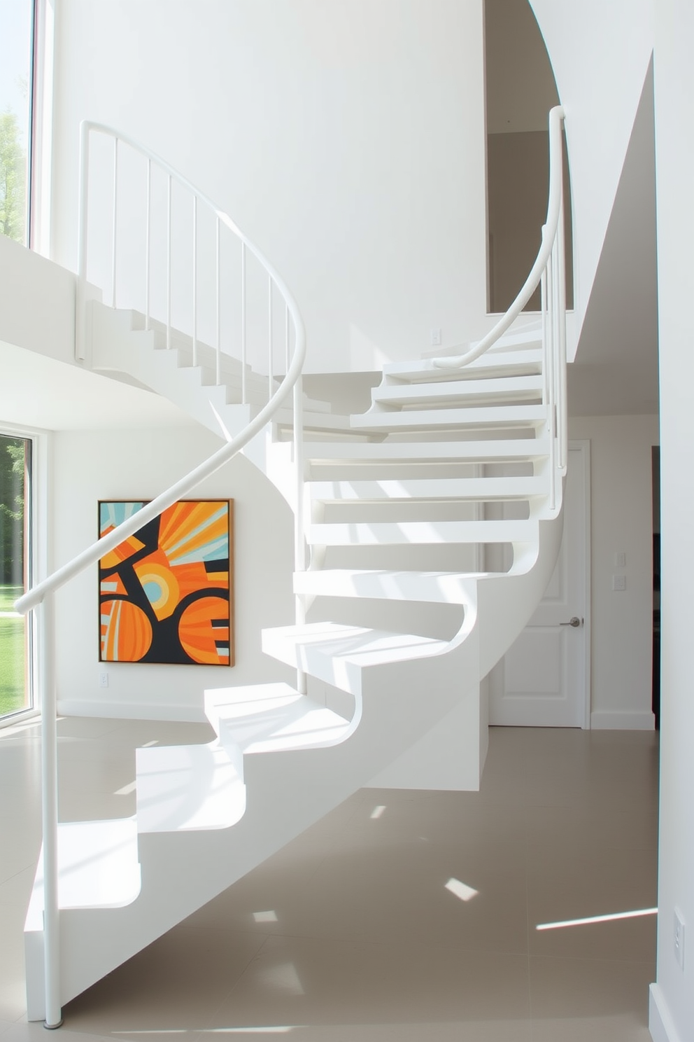
[[[489,722],[589,726],[589,444],[571,443],[564,537],[547,591],[489,677]]]

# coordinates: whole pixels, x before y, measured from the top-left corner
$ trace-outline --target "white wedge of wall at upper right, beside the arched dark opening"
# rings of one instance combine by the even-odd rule
[[[652,0],[530,0],[566,109],[574,304],[586,313],[653,46]]]

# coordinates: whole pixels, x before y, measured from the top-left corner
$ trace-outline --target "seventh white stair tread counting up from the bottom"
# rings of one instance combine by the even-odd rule
[[[382,499],[526,499],[547,493],[543,477],[429,477],[401,480],[307,481],[311,499],[366,502]]]

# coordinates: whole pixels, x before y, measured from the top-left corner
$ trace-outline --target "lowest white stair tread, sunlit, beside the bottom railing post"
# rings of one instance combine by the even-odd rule
[[[67,821],[58,825],[58,907],[117,909],[135,900],[140,875],[134,818]],[[43,848],[34,877],[26,928],[43,928]]]

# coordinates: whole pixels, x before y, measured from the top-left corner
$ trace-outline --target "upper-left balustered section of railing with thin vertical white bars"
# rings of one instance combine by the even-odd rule
[[[99,221],[92,229],[94,196]],[[107,218],[106,210],[110,210]],[[251,258],[256,262],[254,272],[248,271]],[[81,124],[80,139],[78,275],[80,319],[85,315],[81,304],[87,282],[94,280],[112,307],[143,311],[146,329],[158,319],[165,327],[168,348],[172,347],[174,325],[187,332],[194,366],[200,361],[204,325],[214,348],[216,382],[222,382],[225,356],[236,356],[240,362],[243,404],[248,401],[247,367],[252,348],[256,368],[267,366],[267,398],[273,396],[274,370],[281,368],[279,345],[274,342],[281,321],[274,313],[283,300],[283,354],[288,368],[290,330],[291,325],[295,330],[297,316],[286,286],[267,258],[228,214],[171,164],[132,138],[88,120]],[[235,314],[223,316],[223,305]],[[174,306],[179,312],[176,319]],[[264,321],[261,312],[265,312]],[[84,361],[85,351],[85,327],[80,321],[78,361]]]

